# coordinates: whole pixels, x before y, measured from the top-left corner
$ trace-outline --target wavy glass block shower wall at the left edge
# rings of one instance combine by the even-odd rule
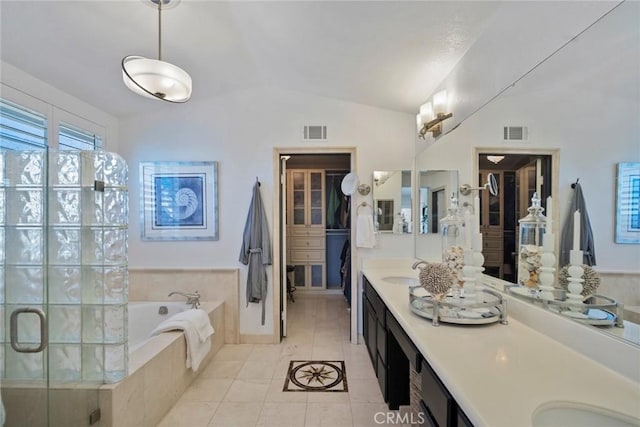
[[[0,152],[2,378],[115,382],[127,374],[128,171],[105,151]],[[11,348],[9,318],[46,313],[44,352]],[[34,315],[18,338],[37,345]]]

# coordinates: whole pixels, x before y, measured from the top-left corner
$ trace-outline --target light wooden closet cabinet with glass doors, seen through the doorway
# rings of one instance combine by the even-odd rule
[[[327,285],[324,182],[324,170],[287,171],[287,263],[300,289]]]

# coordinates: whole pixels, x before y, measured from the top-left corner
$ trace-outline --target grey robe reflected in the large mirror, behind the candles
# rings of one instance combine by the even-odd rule
[[[567,212],[567,219],[564,221],[562,236],[560,240],[559,265],[564,267],[569,264],[569,251],[573,245],[573,214],[580,210],[580,248],[582,249],[582,263],[586,265],[596,265],[596,250],[593,243],[593,230],[589,222],[587,213],[587,203],[582,194],[582,186],[579,183],[573,184],[573,198]]]

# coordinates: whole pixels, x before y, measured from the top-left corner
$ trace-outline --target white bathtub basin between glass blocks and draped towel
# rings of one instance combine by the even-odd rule
[[[166,308],[165,311],[161,308]],[[140,301],[129,303],[129,355],[142,347],[149,339],[151,332],[162,321],[176,313],[191,309],[191,305],[183,302]],[[162,311],[161,311],[162,310]]]

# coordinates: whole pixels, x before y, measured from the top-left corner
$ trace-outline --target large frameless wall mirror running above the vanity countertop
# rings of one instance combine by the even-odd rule
[[[541,192],[545,209],[546,197],[553,198],[557,252],[571,214],[571,185],[579,179],[595,239],[594,269],[601,277],[597,293],[624,304],[625,321],[635,324],[640,324],[640,313],[628,308],[640,306],[640,246],[616,242],[615,233],[617,165],[638,161],[639,11],[638,2],[620,3],[570,43],[555,46],[557,52],[545,61],[531,58],[531,67],[535,67],[515,82],[502,82],[504,91],[479,91],[480,102],[486,104],[479,103],[464,117],[456,115],[454,108],[460,125],[416,157],[416,170],[458,169],[461,183],[473,187],[483,185],[489,172],[496,175],[497,198],[480,191],[482,224],[487,227],[487,234],[483,233],[485,268],[512,283],[517,277],[518,219],[524,216],[532,192]],[[471,71],[463,80],[463,71],[457,70],[444,84],[460,89],[462,83],[474,81]],[[501,70],[486,68],[484,73],[487,79],[497,78]],[[523,132],[514,137],[511,128],[516,127]],[[461,204],[471,197],[461,197]],[[440,244],[435,237],[416,234],[418,258],[438,259]],[[589,327],[640,344],[636,325]]]

